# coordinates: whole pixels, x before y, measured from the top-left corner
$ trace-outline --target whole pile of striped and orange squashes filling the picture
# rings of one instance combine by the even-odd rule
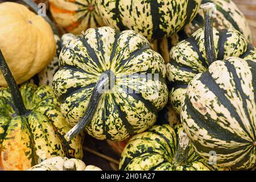
[[[256,49],[232,1],[48,3],[0,3],[1,170],[101,170],[84,133],[120,170],[255,168]]]

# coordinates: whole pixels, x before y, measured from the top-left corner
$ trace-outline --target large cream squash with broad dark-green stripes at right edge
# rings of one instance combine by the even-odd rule
[[[189,83],[181,122],[205,159],[216,152],[217,166],[256,165],[256,60],[214,61]]]

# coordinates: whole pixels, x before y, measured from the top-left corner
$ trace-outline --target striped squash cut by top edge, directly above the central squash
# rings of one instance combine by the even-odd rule
[[[119,30],[135,30],[148,40],[170,36],[191,22],[201,0],[96,0],[101,18]]]

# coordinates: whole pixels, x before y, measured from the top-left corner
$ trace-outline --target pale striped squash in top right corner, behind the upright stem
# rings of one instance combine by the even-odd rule
[[[217,29],[235,28],[245,35],[248,42],[251,43],[252,36],[249,24],[243,13],[238,9],[237,5],[232,0],[203,0],[202,4],[212,2],[216,5],[216,17],[213,19],[213,26]],[[187,24],[183,30],[170,38],[163,38],[158,40],[158,51],[163,56],[167,63],[170,60],[169,52],[173,46],[176,46],[181,40],[188,39],[199,28],[204,26],[204,13],[199,10],[195,19]]]

